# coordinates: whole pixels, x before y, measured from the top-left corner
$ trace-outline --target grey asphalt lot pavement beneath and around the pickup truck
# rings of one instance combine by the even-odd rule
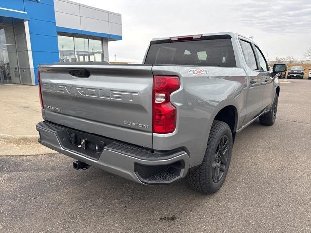
[[[311,232],[311,80],[281,83],[276,123],[236,137],[213,195],[142,186],[55,153],[0,156],[0,232]]]

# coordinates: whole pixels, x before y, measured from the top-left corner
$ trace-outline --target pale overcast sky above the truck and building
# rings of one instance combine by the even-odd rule
[[[253,36],[272,60],[304,59],[311,47],[311,0],[73,0],[122,15],[123,40],[109,60],[141,62],[155,37],[216,32]]]

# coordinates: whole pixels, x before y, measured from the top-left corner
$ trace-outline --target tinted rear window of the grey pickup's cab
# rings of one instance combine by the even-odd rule
[[[231,39],[151,44],[145,63],[236,67]]]

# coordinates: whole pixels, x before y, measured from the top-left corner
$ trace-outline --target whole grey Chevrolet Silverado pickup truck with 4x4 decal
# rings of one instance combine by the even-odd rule
[[[143,64],[40,65],[44,121],[39,142],[126,179],[163,185],[187,176],[216,192],[236,133],[276,119],[277,73],[259,47],[236,33],[150,42]]]

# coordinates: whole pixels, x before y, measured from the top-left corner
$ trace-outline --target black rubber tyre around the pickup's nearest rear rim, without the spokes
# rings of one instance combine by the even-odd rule
[[[227,137],[228,139],[227,163],[224,172],[222,171],[223,173],[219,181],[214,182],[213,171],[215,169],[215,160],[217,159],[216,150],[219,148],[220,140],[224,137]],[[187,175],[188,183],[192,189],[205,194],[212,194],[220,189],[228,173],[232,145],[232,132],[228,124],[223,121],[214,120],[209,133],[207,148],[205,150],[202,164],[195,169],[190,170]]]

